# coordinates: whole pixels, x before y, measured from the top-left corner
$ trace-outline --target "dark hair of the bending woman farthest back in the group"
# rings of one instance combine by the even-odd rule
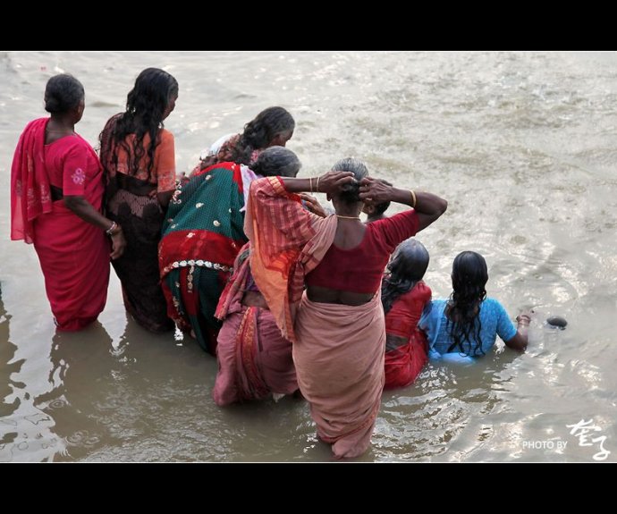
[[[233,148],[232,161],[251,164],[250,157],[255,150],[268,147],[276,136],[291,133],[296,127],[292,114],[283,107],[268,107],[253,120],[244,125],[238,143]]]

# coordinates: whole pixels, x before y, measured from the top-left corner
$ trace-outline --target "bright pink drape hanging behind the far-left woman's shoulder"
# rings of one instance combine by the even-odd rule
[[[45,167],[45,127],[49,118],[30,122],[21,133],[11,166],[11,239],[31,243],[32,222],[52,211]]]

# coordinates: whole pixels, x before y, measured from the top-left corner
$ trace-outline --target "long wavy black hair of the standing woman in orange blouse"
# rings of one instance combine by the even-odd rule
[[[101,132],[101,160],[113,151],[111,163],[118,165],[118,148],[123,147],[130,158],[128,173],[134,175],[139,170],[139,162],[144,156],[143,139],[148,133],[148,176],[154,166],[155,149],[159,144],[158,131],[164,127],[163,116],[173,97],[178,95],[178,81],[158,68],[147,68],[139,73],[135,86],[126,98],[126,111],[116,114]],[[132,148],[127,136],[135,134]],[[113,150],[112,150],[113,149]],[[132,151],[131,151],[132,150]]]

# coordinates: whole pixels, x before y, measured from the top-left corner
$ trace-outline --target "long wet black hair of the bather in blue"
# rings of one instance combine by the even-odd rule
[[[478,314],[480,304],[486,299],[487,281],[486,260],[480,254],[464,251],[454,258],[452,294],[446,308],[447,326],[450,327],[452,339],[448,352],[458,349],[467,355],[484,354],[480,340],[482,323]],[[473,349],[472,343],[475,344]]]

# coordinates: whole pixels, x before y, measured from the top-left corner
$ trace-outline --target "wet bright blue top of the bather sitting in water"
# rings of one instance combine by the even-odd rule
[[[418,322],[418,327],[427,333],[429,358],[446,356],[447,360],[473,362],[472,357],[481,357],[493,348],[497,336],[503,341],[510,341],[516,335],[516,327],[511,322],[508,313],[505,312],[503,305],[496,299],[487,298],[480,304],[480,312],[474,321],[478,323],[479,318],[482,324],[480,327],[481,350],[479,348],[474,350],[476,341],[466,340],[462,343],[462,351],[457,348],[448,354],[448,348],[453,341],[450,337],[452,325],[444,314],[447,302],[448,300],[445,299],[434,299],[429,302]],[[454,356],[457,358],[453,358]]]

